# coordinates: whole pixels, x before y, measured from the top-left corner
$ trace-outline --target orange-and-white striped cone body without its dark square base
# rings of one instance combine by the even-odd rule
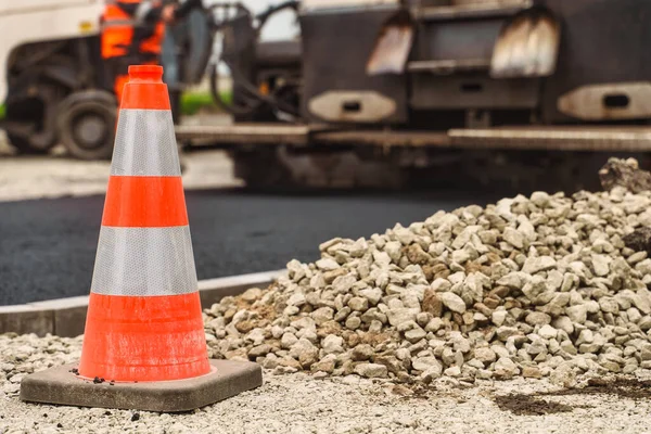
[[[79,374],[116,381],[209,372],[169,99],[159,66],[129,68]]]

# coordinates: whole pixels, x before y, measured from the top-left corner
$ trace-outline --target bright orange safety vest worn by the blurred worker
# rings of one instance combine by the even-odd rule
[[[120,0],[124,3],[139,4],[142,0]],[[111,59],[126,55],[133,40],[135,20],[123,11],[115,1],[106,0],[102,14],[102,58]],[[156,23],[154,34],[140,42],[139,51],[161,54],[165,36],[165,24]]]

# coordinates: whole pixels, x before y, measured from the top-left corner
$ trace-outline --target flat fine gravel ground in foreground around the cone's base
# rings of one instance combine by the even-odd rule
[[[545,380],[438,379],[411,394],[384,380],[356,375],[318,380],[273,375],[263,387],[183,414],[55,407],[18,400],[18,380],[49,365],[72,362],[80,339],[0,336],[0,433],[648,433],[648,400],[610,395],[546,396],[571,411],[516,416],[496,397],[556,391]],[[7,355],[10,355],[7,357]],[[11,366],[10,366],[11,365]],[[8,380],[9,378],[9,380]],[[407,395],[405,395],[407,394]],[[136,416],[137,414],[137,416]]]

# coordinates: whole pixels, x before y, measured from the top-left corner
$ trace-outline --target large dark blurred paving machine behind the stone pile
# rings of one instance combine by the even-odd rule
[[[299,38],[260,41],[288,9]],[[212,27],[233,104],[214,97],[234,122],[177,135],[229,149],[255,186],[400,184],[432,168],[571,182],[590,155],[601,165],[603,152],[651,146],[650,14],[644,0],[303,0],[258,16],[234,5]]]

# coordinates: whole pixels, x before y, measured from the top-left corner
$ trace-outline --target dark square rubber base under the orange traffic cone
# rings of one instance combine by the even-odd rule
[[[114,383],[84,380],[64,365],[27,375],[21,399],[77,407],[142,411],[188,411],[263,385],[263,370],[246,361],[210,360],[213,370],[188,380],[151,383]]]

